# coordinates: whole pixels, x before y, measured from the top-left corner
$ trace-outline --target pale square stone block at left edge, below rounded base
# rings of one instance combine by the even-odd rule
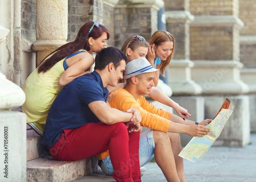
[[[0,181],[25,182],[27,181],[26,114],[0,111],[0,128],[0,141],[3,142],[0,157],[2,169]]]

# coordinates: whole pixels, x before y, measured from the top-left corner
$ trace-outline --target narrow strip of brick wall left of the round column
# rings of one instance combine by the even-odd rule
[[[22,1],[22,37],[36,40],[36,0]]]

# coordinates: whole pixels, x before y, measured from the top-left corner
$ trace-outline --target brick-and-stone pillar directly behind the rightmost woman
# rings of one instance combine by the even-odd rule
[[[166,11],[166,30],[175,38],[175,54],[169,64],[169,85],[174,95],[199,95],[201,87],[191,80],[194,63],[189,59],[189,23],[194,20],[187,10]]]

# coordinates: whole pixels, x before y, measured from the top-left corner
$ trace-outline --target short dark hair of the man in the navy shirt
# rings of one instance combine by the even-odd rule
[[[125,64],[128,63],[127,57],[121,50],[115,47],[103,48],[95,57],[94,69],[103,70],[110,63],[113,63],[116,69],[120,65],[121,60],[124,60]]]

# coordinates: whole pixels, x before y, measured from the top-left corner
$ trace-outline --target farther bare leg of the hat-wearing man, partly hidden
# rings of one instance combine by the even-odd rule
[[[187,180],[186,180],[184,168],[183,168],[183,158],[179,157],[179,153],[182,150],[181,143],[180,143],[180,134],[177,134],[177,133],[167,133],[167,134],[169,136],[170,143],[172,144],[177,173],[179,175],[180,181],[185,182]]]

